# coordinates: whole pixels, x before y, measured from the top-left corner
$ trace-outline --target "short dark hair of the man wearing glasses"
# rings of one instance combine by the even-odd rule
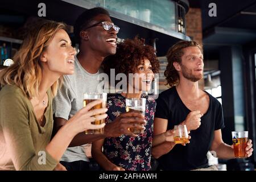
[[[109,15],[109,12],[102,7],[94,7],[93,9],[85,10],[84,13],[79,15],[74,25],[75,42],[80,43],[80,31],[82,28],[88,26],[92,19],[100,14]]]

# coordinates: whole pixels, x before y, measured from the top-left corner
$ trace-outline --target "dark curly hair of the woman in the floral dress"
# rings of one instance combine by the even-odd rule
[[[106,57],[102,63],[104,72],[110,78],[110,69],[115,69],[115,75],[125,73],[127,78],[129,73],[135,73],[141,60],[148,59],[152,66],[152,72],[159,72],[159,61],[156,59],[155,49],[152,46],[144,44],[144,39],[135,37],[126,39],[124,42],[117,44],[115,55]]]

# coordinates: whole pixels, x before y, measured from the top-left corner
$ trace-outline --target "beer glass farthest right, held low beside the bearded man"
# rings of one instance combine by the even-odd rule
[[[248,131],[232,131],[234,144],[234,156],[236,158],[246,158],[245,148],[247,146]]]

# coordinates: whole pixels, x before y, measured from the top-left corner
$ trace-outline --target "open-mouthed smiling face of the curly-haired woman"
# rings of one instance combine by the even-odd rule
[[[142,60],[141,64],[136,67],[135,73],[138,75],[134,78],[133,88],[139,91],[149,91],[154,78],[150,61],[147,58]],[[136,82],[136,80],[138,80],[138,82]]]

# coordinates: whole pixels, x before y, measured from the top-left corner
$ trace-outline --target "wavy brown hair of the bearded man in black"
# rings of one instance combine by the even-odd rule
[[[177,42],[168,50],[166,55],[168,64],[166,67],[166,71],[164,71],[164,76],[166,76],[166,85],[169,85],[170,87],[179,84],[179,74],[174,68],[174,62],[181,63],[181,56],[183,56],[184,54],[183,49],[187,47],[198,47],[203,53],[203,48],[199,43],[186,40]]]

